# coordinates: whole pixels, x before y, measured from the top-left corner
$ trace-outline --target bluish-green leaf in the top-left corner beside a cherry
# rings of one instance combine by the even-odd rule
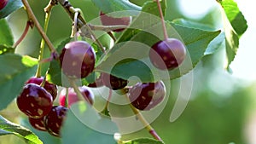
[[[9,0],[7,5],[2,10],[0,10],[0,19],[5,18],[9,14],[12,14],[15,12],[15,10],[20,9],[21,7],[23,7],[21,0]]]

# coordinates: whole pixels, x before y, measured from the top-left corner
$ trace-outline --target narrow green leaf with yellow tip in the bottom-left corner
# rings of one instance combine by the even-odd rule
[[[28,144],[43,144],[38,136],[32,133],[31,130],[9,122],[0,115],[0,135],[16,135],[24,139]]]

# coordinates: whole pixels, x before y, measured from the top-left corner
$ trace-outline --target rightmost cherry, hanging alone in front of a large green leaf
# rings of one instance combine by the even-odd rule
[[[161,70],[172,70],[179,66],[186,56],[184,44],[176,38],[159,41],[149,51],[152,64]]]

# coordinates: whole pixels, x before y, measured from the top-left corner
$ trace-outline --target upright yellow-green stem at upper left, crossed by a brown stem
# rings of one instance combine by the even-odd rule
[[[52,2],[50,1],[49,4],[45,7],[44,12],[45,12],[45,18],[44,18],[44,32],[46,33],[48,30],[48,26],[49,26],[49,18],[50,18],[50,14],[51,14],[51,9],[53,8]],[[39,56],[38,56],[38,70],[36,73],[36,77],[39,78],[41,77],[41,71],[42,71],[42,65],[43,65],[43,57],[44,57],[44,48],[45,48],[45,41],[44,38],[42,38],[41,40],[41,44],[40,44],[40,52],[39,52]]]

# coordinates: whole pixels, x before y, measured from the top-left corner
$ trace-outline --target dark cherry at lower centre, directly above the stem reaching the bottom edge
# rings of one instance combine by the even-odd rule
[[[165,85],[156,83],[138,83],[129,90],[129,99],[133,107],[139,110],[150,110],[164,100]]]

